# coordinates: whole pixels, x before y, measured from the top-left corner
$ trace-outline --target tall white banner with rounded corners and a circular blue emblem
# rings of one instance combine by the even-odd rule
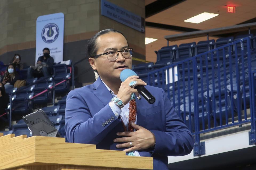
[[[50,49],[54,62],[63,61],[64,14],[42,15],[37,18],[35,62],[43,55],[45,47]]]

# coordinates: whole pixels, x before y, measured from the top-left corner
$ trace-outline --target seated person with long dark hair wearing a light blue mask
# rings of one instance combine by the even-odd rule
[[[14,83],[17,80],[20,80],[20,79],[21,78],[20,78],[19,74],[14,69],[14,65],[9,64],[8,67],[7,67],[7,72],[5,73],[5,76],[4,76],[3,81],[2,81],[2,83],[5,86],[5,89],[14,88]]]

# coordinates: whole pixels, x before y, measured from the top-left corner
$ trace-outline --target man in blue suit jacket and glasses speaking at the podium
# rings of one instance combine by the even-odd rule
[[[168,155],[189,154],[194,145],[193,136],[175,113],[166,93],[161,88],[146,85],[136,76],[121,82],[121,71],[131,68],[132,62],[132,49],[122,33],[114,29],[98,32],[87,48],[89,62],[100,77],[67,96],[65,130],[69,142],[151,156],[154,169],[161,170],[168,169]],[[135,124],[130,122],[136,131],[124,132],[123,122],[125,124],[130,116],[126,113],[131,94],[139,96],[138,91],[128,85],[132,81],[145,86],[156,101],[149,104],[145,99],[136,98],[137,117]],[[111,101],[114,96],[123,105]]]

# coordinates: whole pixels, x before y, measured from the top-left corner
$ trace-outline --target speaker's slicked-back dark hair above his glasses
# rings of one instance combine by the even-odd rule
[[[89,41],[88,45],[87,45],[87,52],[88,52],[88,55],[89,57],[94,57],[96,56],[96,53],[97,53],[97,50],[98,50],[98,47],[97,47],[97,43],[96,43],[96,40],[99,36],[101,35],[104,35],[104,34],[107,34],[107,33],[110,33],[110,32],[115,32],[115,33],[120,33],[123,35],[122,32],[120,31],[117,31],[115,29],[104,29],[100,32],[97,32]],[[126,38],[125,38],[126,39]],[[127,41],[127,40],[126,40]],[[127,44],[128,44],[128,41],[127,41]],[[129,46],[129,44],[128,44]]]

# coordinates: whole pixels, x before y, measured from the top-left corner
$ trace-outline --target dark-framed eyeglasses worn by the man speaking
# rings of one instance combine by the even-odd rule
[[[106,53],[103,53],[103,54],[99,54],[99,55],[94,56],[94,58],[97,58],[99,56],[107,54],[107,59],[109,61],[114,61],[114,60],[117,60],[117,58],[119,56],[118,55],[119,52],[122,53],[123,58],[130,58],[133,55],[133,49],[132,48],[126,48],[122,51],[109,51],[109,52],[106,52]]]

